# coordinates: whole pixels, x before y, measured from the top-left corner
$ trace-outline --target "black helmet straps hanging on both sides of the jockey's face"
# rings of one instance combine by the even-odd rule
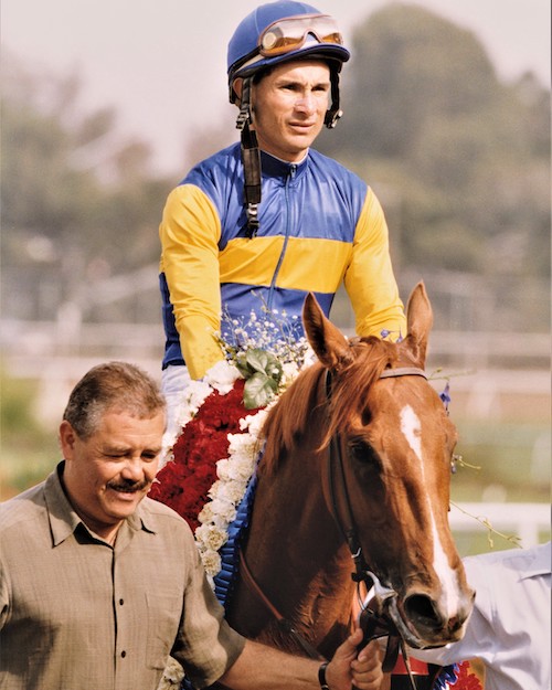
[[[242,82],[240,113],[236,119],[236,129],[242,132],[242,162],[244,167],[244,201],[247,216],[246,236],[251,240],[258,231],[258,204],[261,203],[261,151],[257,135],[251,128],[251,85],[252,77]],[[325,125],[329,129],[336,127],[343,112],[339,107],[339,74],[331,70],[331,106],[326,113]]]

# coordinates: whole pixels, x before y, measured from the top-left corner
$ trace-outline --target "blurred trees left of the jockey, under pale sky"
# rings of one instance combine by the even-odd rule
[[[120,140],[113,108],[81,112],[77,75],[4,62],[2,308],[52,318],[83,285],[89,296],[95,280],[158,259],[170,183],[151,173],[146,142]]]

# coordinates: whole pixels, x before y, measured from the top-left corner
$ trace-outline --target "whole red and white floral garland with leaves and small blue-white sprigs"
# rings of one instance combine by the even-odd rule
[[[254,475],[265,416],[315,358],[305,337],[286,330],[285,314],[252,312],[246,325],[226,323],[232,344],[219,338],[225,360],[183,393],[177,413],[181,431],[166,439],[164,464],[149,492],[190,524],[215,590],[220,552]]]

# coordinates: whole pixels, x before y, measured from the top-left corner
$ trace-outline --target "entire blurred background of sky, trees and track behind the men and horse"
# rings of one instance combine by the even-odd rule
[[[375,190],[403,299],[424,279],[434,306],[460,552],[549,539],[550,2],[316,4],[353,55],[317,148]],[[160,376],[161,211],[236,139],[225,51],[256,6],[2,0],[2,500],[54,467],[91,365]],[[343,295],[332,318],[351,329]]]

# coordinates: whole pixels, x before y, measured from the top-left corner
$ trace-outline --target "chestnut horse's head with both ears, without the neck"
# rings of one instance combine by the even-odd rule
[[[311,295],[304,321],[331,379],[326,443],[343,469],[341,488],[327,490],[330,509],[354,527],[369,570],[393,591],[388,613],[407,644],[455,641],[474,594],[448,526],[457,433],[423,375],[433,323],[425,288],[411,295],[399,343],[346,339]]]

